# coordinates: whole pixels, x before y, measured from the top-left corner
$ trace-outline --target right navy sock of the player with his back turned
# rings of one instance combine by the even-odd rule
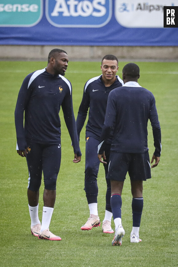
[[[140,227],[141,214],[143,210],[143,198],[133,198],[132,199],[132,218],[133,227]]]

